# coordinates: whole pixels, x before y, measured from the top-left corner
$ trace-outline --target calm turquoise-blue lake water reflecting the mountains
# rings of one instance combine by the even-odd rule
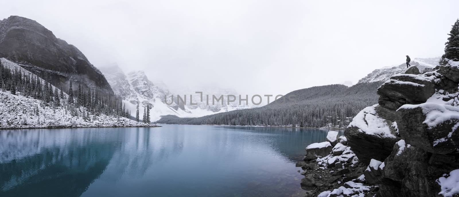
[[[0,196],[304,196],[295,163],[306,146],[325,141],[327,131],[199,125],[0,130]]]

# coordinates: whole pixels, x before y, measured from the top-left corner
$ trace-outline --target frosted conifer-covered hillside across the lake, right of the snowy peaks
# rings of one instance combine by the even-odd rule
[[[278,100],[269,105],[208,115],[200,118],[163,116],[162,124],[216,124],[247,126],[346,127],[364,107],[378,101],[376,89],[382,82],[340,84],[293,91],[295,101]]]

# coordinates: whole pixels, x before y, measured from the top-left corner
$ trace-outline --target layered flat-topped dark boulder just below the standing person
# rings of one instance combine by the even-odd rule
[[[397,110],[404,104],[420,104],[435,92],[435,75],[396,74],[377,93],[381,107]]]

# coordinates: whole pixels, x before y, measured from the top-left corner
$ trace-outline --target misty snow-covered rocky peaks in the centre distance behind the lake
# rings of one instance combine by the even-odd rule
[[[116,64],[101,68],[108,83],[112,86],[115,95],[123,99],[126,108],[131,112],[136,111],[137,102],[139,102],[140,117],[143,117],[144,107],[150,107],[151,121],[157,121],[164,115],[175,115],[178,117],[202,117],[214,113],[228,112],[236,109],[250,108],[251,105],[239,105],[239,102],[231,102],[227,104],[226,95],[238,95],[235,90],[218,89],[218,88],[200,88],[203,92],[203,100],[201,94],[196,93],[196,90],[184,89],[179,90],[179,93],[173,93],[168,86],[161,81],[154,83],[148,79],[145,72],[134,71],[124,73]],[[190,95],[193,98],[193,103],[190,105]],[[209,95],[209,105],[207,105],[206,95]],[[224,104],[215,103],[212,105],[212,95],[217,97],[224,95]],[[172,98],[171,96],[174,96]],[[178,101],[177,96],[182,99],[186,96],[186,104],[181,100]],[[170,105],[166,103],[172,103]]]

